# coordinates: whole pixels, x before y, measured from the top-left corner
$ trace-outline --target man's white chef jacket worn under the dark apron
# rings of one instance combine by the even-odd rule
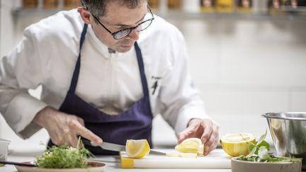
[[[32,120],[47,105],[60,108],[72,80],[84,21],[76,9],[60,11],[30,25],[23,40],[0,62],[0,111],[8,125],[28,138],[40,127]],[[191,118],[208,118],[187,70],[183,35],[155,16],[140,33],[149,100],[176,132]],[[40,100],[29,88],[42,86]],[[143,96],[135,49],[111,53],[89,25],[81,51],[76,94],[104,113],[117,115]]]

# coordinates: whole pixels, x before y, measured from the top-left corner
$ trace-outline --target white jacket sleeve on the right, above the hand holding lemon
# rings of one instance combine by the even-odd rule
[[[179,30],[171,38],[167,48],[171,49],[171,57],[167,57],[171,62],[159,93],[160,113],[176,133],[179,133],[192,118],[210,117],[205,113],[203,100],[188,72],[186,44]]]

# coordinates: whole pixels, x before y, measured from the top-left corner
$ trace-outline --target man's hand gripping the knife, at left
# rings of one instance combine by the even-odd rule
[[[44,127],[56,145],[68,144],[77,147],[78,136],[89,139],[95,144],[102,144],[102,139],[84,127],[84,120],[76,115],[62,113],[46,107],[34,117],[33,122]]]

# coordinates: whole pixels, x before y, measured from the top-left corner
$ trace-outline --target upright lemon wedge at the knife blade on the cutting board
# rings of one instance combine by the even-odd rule
[[[150,147],[147,139],[128,139],[125,151],[130,158],[141,159],[149,154]]]

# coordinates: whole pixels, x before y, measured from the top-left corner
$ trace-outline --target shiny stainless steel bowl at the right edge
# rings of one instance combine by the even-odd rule
[[[268,127],[278,156],[302,158],[306,170],[306,113],[266,113]]]

